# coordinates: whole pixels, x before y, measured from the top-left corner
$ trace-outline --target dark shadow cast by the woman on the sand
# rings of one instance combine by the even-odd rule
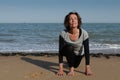
[[[43,69],[52,71],[55,74],[59,70],[58,68],[55,68],[55,67],[59,66],[58,63],[54,63],[54,62],[50,62],[50,61],[45,61],[45,60],[35,60],[35,59],[28,58],[28,57],[22,57],[21,59],[23,61],[26,61],[26,62],[29,62],[29,63],[34,64],[36,66],[39,66],[39,67],[41,67]],[[67,65],[66,62],[64,62],[64,66],[63,67],[65,69],[68,69],[68,65]],[[81,74],[85,74],[85,72],[82,72],[82,71],[77,71],[77,70],[75,70],[75,71],[78,72],[78,73],[81,73]],[[69,72],[69,70],[64,70],[64,72],[67,74]]]

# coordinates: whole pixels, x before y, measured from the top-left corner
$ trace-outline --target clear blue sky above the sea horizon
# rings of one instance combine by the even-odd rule
[[[120,0],[0,0],[0,23],[63,23],[71,11],[83,23],[120,23]]]

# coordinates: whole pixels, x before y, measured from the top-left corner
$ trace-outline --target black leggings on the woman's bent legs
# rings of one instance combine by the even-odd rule
[[[83,56],[77,56],[74,54],[74,48],[70,45],[66,45],[62,48],[61,53],[66,57],[69,67],[77,68],[83,58]]]

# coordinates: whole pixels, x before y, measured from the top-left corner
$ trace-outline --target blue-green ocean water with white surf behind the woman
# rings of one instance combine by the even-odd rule
[[[83,23],[90,53],[120,53],[120,23]],[[0,23],[0,53],[58,52],[62,23]]]

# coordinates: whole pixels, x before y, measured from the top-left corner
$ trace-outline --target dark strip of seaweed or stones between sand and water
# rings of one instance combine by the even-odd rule
[[[39,53],[26,53],[26,52],[14,52],[14,53],[1,53],[0,56],[58,56],[56,52],[39,52]],[[104,54],[104,53],[90,53],[91,57],[106,57],[109,58],[110,56],[120,57],[120,53],[113,53],[113,54]]]

